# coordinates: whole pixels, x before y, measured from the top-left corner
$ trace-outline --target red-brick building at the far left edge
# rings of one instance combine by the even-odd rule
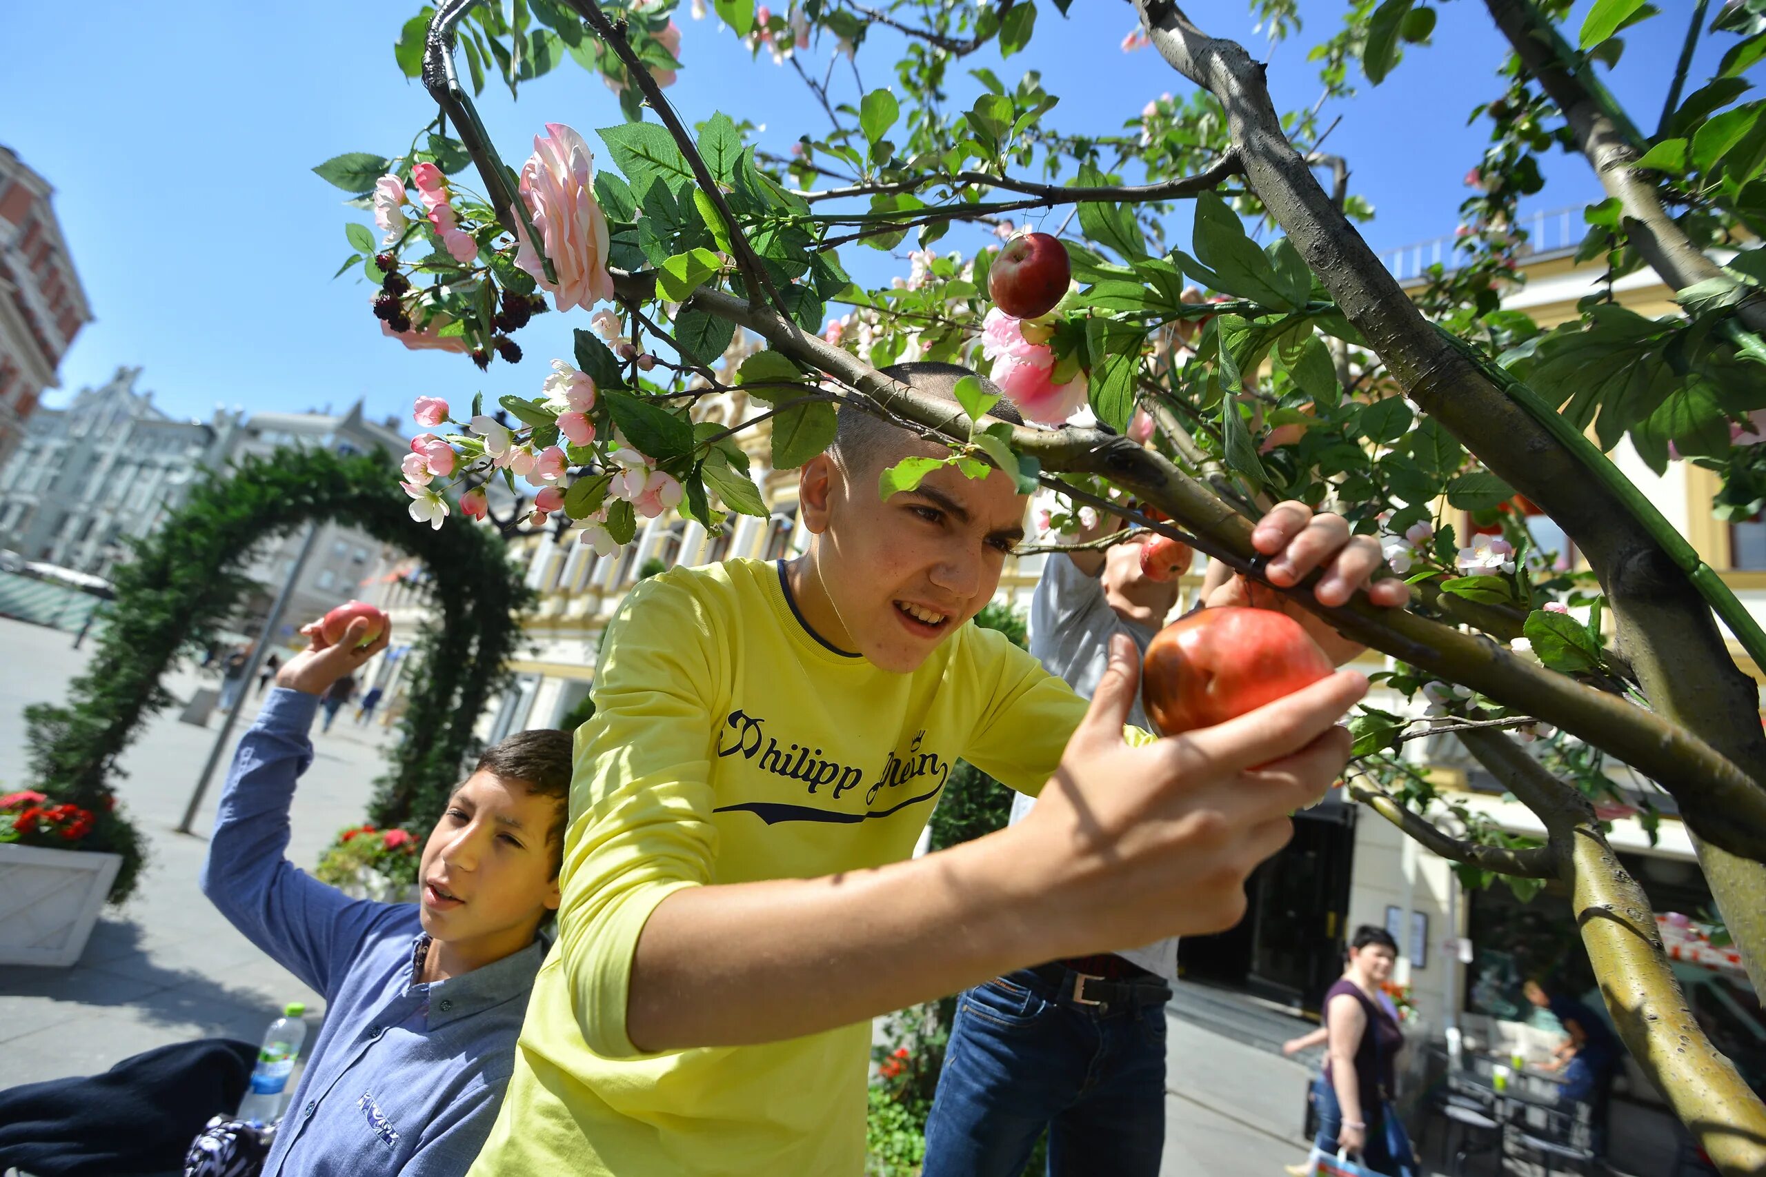
[[[53,189],[0,146],[0,464],[92,309],[51,206]]]

